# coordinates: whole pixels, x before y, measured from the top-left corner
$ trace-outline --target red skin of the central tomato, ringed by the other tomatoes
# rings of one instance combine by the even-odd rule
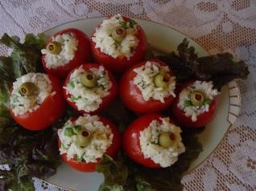
[[[88,71],[90,68],[99,68],[100,66],[101,65],[97,64],[97,63],[85,63],[85,64],[83,64],[83,68],[85,69],[85,71]],[[78,67],[80,67],[80,66],[78,66]],[[78,68],[78,67],[76,67],[76,68]],[[67,76],[67,78],[65,79],[65,82],[64,82],[64,87],[67,87],[70,76],[72,75],[72,72],[76,70],[76,68],[74,68],[68,74],[68,76]],[[76,109],[76,111],[81,112],[81,113],[97,114],[99,112],[102,112],[118,95],[118,84],[117,84],[116,80],[114,79],[114,75],[112,75],[111,72],[109,70],[107,70],[106,68],[105,68],[105,71],[108,72],[109,81],[112,83],[112,87],[110,87],[110,89],[109,89],[109,95],[106,95],[105,97],[101,98],[102,103],[99,105],[99,108],[97,108],[97,110],[95,110],[93,112],[85,112],[84,110],[78,110],[78,108],[76,107],[76,104],[73,103],[72,101],[68,100],[68,98],[70,98],[71,95],[69,93],[67,93],[67,91],[65,89],[63,89],[64,90],[64,98],[68,102],[68,104],[72,108]]]

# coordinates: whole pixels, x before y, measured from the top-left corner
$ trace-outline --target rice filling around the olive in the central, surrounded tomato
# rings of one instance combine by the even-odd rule
[[[85,87],[81,83],[81,76],[85,73],[83,67],[77,68],[72,72],[66,89],[70,94],[69,101],[76,104],[80,111],[94,112],[102,103],[102,98],[109,95],[109,89],[112,83],[109,81],[109,75],[104,67],[90,68],[90,72],[97,78],[97,86],[93,88]]]

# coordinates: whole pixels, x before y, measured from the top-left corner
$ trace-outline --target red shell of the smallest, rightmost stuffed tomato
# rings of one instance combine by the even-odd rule
[[[211,104],[209,105],[209,112],[201,113],[199,116],[197,116],[197,120],[193,122],[191,119],[191,116],[185,116],[184,111],[178,107],[178,103],[180,100],[180,92],[184,90],[184,88],[191,85],[192,83],[194,83],[194,81],[189,81],[188,83],[184,83],[184,85],[180,87],[179,93],[176,94],[176,98],[174,100],[174,104],[171,110],[172,110],[173,116],[180,124],[188,128],[200,128],[205,126],[206,124],[209,124],[213,120],[217,112],[219,96],[218,95],[214,96]]]

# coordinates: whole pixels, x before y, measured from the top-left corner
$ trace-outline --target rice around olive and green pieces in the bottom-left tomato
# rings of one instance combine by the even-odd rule
[[[64,131],[66,128],[74,128],[76,125],[81,125],[82,130],[87,130],[91,135],[91,142],[86,147],[81,147],[76,144],[76,134],[72,136],[65,136]],[[67,154],[68,160],[79,158],[86,163],[97,162],[107,148],[112,144],[113,133],[109,125],[104,125],[98,116],[80,116],[74,123],[68,120],[64,124],[64,128],[58,130],[60,137],[61,147],[60,154]]]

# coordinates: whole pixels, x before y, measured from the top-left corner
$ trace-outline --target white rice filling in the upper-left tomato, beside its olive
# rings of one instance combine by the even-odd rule
[[[74,58],[77,51],[78,40],[72,33],[64,33],[63,35],[52,37],[52,41],[61,43],[61,51],[59,54],[55,55],[47,51],[47,49],[41,50],[42,54],[45,55],[44,61],[46,67],[49,69],[63,67]]]

